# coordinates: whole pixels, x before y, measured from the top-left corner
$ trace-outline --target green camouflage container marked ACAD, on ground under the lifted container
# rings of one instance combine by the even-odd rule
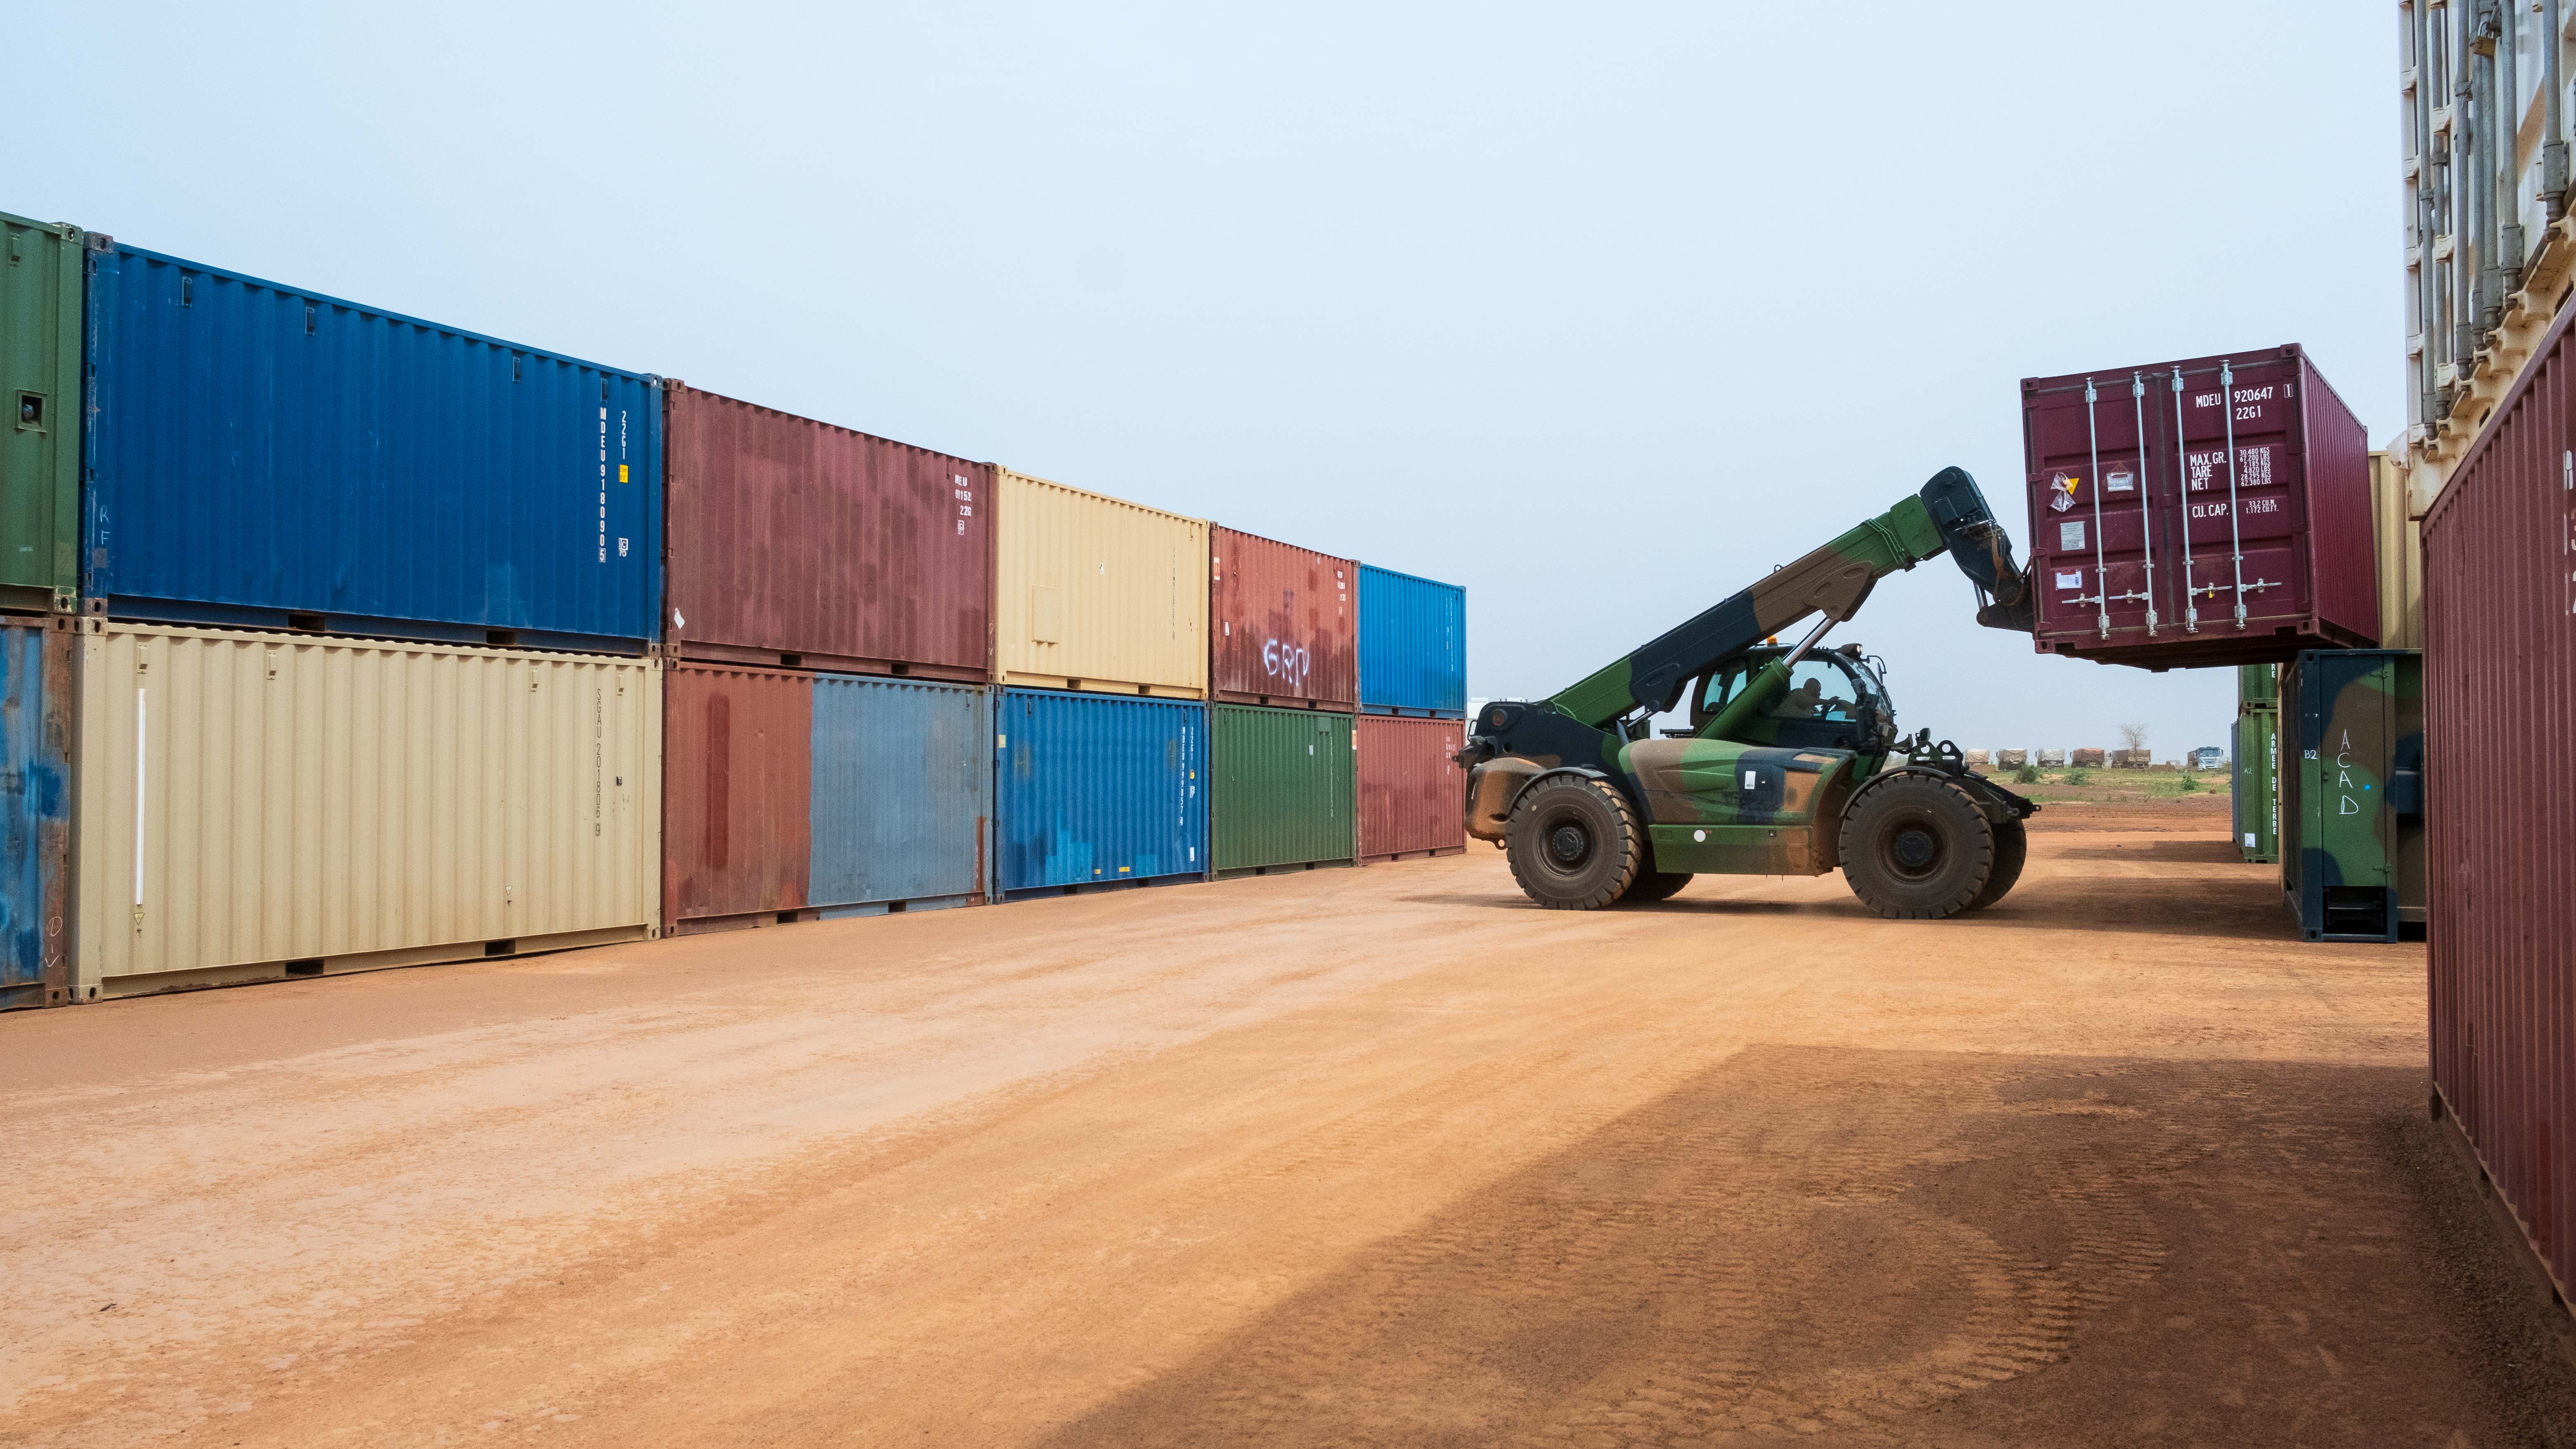
[[[2421,933],[2424,655],[2311,650],[2282,668],[2280,696],[2298,740],[2280,771],[2280,877],[2300,933]]]

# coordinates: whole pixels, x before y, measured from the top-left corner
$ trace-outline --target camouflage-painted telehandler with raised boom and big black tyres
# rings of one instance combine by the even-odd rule
[[[2030,632],[2027,575],[1965,469],[1551,699],[1468,722],[1466,833],[1494,841],[1538,905],[1664,900],[1692,874],[1842,869],[1880,915],[1994,905],[2022,874],[2038,804],[1932,732],[1901,737],[1886,665],[1819,650],[1880,578],[1950,554],[1978,624]],[[1824,619],[1798,645],[1777,637]],[[1654,719],[1690,701],[1690,730]]]

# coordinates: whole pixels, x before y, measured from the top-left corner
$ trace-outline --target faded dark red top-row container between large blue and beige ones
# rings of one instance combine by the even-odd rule
[[[981,681],[992,464],[662,384],[677,657]]]

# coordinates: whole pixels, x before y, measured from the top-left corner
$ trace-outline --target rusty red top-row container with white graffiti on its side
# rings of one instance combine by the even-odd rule
[[[1360,565],[1208,526],[1208,686],[1231,704],[1360,706]]]

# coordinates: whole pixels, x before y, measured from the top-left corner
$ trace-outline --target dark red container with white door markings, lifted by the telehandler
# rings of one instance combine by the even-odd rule
[[[2370,436],[2295,343],[2022,379],[2035,645],[2151,670],[2378,642]]]

